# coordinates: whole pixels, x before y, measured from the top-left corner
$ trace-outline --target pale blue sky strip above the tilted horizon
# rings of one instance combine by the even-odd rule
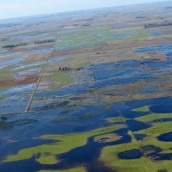
[[[0,19],[161,0],[0,0]]]

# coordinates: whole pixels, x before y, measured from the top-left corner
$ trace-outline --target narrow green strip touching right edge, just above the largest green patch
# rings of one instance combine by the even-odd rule
[[[172,113],[164,113],[164,114],[153,113],[153,114],[138,117],[136,118],[136,120],[142,121],[142,122],[149,122],[156,119],[161,120],[161,119],[166,119],[166,118],[172,118]]]

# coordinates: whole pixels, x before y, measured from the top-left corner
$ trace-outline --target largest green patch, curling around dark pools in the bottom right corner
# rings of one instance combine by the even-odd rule
[[[162,133],[166,133],[171,131],[172,122],[167,123],[156,123],[153,127],[141,130],[138,132],[134,132],[134,134],[147,134],[143,141],[132,141],[131,143],[121,144],[121,145],[113,145],[104,147],[101,151],[100,159],[105,163],[105,165],[116,169],[118,172],[157,172],[162,169],[166,169],[167,171],[171,171],[172,163],[170,160],[163,161],[153,161],[152,159],[147,158],[146,156],[142,156],[138,159],[120,159],[118,154],[120,152],[129,151],[132,149],[139,149],[143,146],[154,145],[162,149],[162,152],[165,150],[166,152],[171,151],[171,143],[170,142],[161,142],[156,137]]]

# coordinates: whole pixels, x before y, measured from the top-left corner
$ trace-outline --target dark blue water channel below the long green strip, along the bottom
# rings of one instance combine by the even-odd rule
[[[32,162],[32,166],[26,169],[27,171],[38,171],[41,169],[51,169],[51,170],[62,170],[62,169],[68,169],[72,167],[77,167],[79,165],[83,165],[87,168],[88,172],[97,172],[97,171],[104,171],[104,172],[112,172],[114,170],[105,167],[103,163],[101,163],[98,160],[98,157],[100,155],[100,151],[102,150],[103,147],[105,146],[110,146],[110,145],[118,145],[121,143],[128,143],[131,142],[131,137],[127,134],[127,130],[122,129],[120,131],[116,131],[114,133],[122,133],[122,138],[110,142],[110,143],[98,143],[94,142],[94,137],[90,137],[88,139],[88,143],[84,146],[75,148],[67,153],[60,154],[57,156],[57,158],[60,160],[60,162],[56,165],[39,165],[38,163],[34,162],[33,158],[30,160],[25,160],[25,161],[19,161],[19,162],[14,162],[10,164],[4,164],[0,166],[0,170],[10,170],[12,166],[16,166],[18,171],[22,171],[23,167],[21,166],[22,164],[30,163]],[[37,155],[39,157],[39,155]],[[36,157],[34,157],[36,158]],[[97,166],[95,167],[95,164]],[[104,170],[103,170],[104,169]],[[15,172],[15,170],[14,170]]]

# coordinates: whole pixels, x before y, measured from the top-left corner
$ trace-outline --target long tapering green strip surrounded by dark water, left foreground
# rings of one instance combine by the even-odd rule
[[[78,134],[67,134],[67,135],[43,135],[40,138],[44,140],[55,140],[55,144],[43,144],[36,147],[22,149],[17,152],[15,155],[9,155],[3,162],[13,162],[20,161],[32,158],[34,155],[46,155],[47,153],[50,156],[44,156],[37,161],[40,163],[49,162],[52,160],[52,157],[68,152],[79,146],[83,146],[87,143],[87,139],[92,136],[97,136],[100,134],[105,134],[113,132],[119,128],[124,127],[123,125],[118,126],[109,126],[105,128],[99,128],[92,130],[90,132],[78,133]],[[58,160],[57,160],[58,161]]]

